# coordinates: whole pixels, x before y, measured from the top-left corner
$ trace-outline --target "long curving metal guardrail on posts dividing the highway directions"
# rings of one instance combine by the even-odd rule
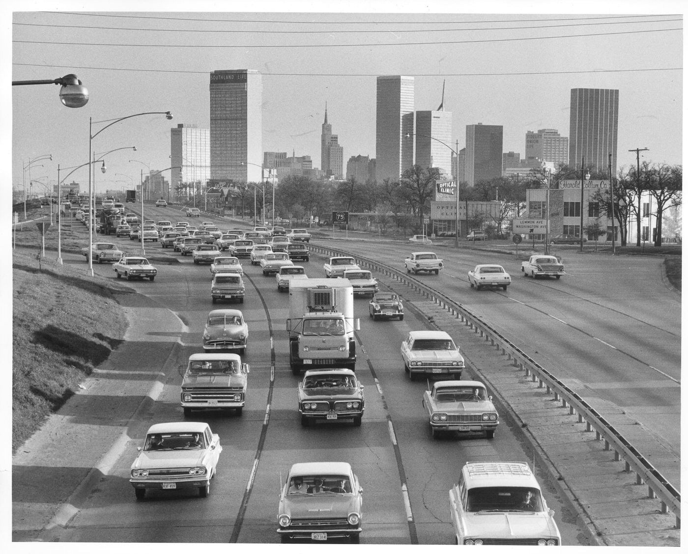
[[[369,258],[363,258],[358,254],[351,254],[336,248],[322,247],[310,244],[310,250],[324,254],[325,256],[354,256],[361,261],[368,269],[375,269],[377,272],[386,274],[395,280],[415,289],[424,296],[433,299],[440,304],[440,307],[447,309],[450,313],[460,318],[462,322],[470,326],[475,333],[480,333],[486,341],[490,341],[492,346],[502,351],[502,355],[508,356],[513,361],[513,366],[524,370],[526,377],[530,377],[533,383],[537,382],[539,388],[547,389],[548,394],[552,394],[556,401],[561,401],[561,406],[569,408],[569,414],[578,414],[579,423],[585,423],[587,432],[596,433],[597,441],[604,441],[604,450],[614,450],[614,461],[623,461],[625,471],[633,471],[636,474],[636,485],[647,484],[647,498],[658,498],[661,503],[661,513],[671,513],[676,517],[676,529],[680,529],[681,506],[680,491],[676,489],[662,474],[647,461],[647,458],[638,452],[636,448],[627,441],[623,435],[614,428],[614,425],[605,420],[590,404],[583,400],[577,392],[568,388],[555,375],[535,362],[518,346],[510,342],[499,331],[480,319],[479,316],[471,313],[461,304],[455,302],[441,291],[433,289],[420,282],[420,280],[408,276],[404,272],[394,269]]]

